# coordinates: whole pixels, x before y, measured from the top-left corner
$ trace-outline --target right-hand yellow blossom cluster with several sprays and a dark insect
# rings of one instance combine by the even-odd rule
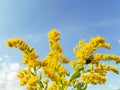
[[[119,70],[116,67],[111,65],[107,66],[105,63],[101,64],[100,61],[114,60],[116,63],[120,63],[120,56],[96,52],[100,47],[106,49],[111,48],[110,44],[106,43],[104,38],[97,36],[92,38],[88,43],[81,40],[74,48],[77,60],[71,61],[70,65],[75,71],[79,71],[81,67],[84,67],[84,69],[79,72],[82,73],[80,80],[84,83],[104,84],[108,71],[119,74]]]

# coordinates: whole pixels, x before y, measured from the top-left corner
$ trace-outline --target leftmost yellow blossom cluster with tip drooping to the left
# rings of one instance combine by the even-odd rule
[[[27,84],[27,90],[36,90],[38,77],[36,75],[36,67],[40,67],[41,62],[37,60],[39,57],[33,50],[34,48],[28,46],[26,42],[19,38],[7,40],[7,46],[18,48],[22,51],[24,60],[23,64],[28,66],[28,69],[22,69],[18,72],[17,77],[20,78],[20,86]]]

